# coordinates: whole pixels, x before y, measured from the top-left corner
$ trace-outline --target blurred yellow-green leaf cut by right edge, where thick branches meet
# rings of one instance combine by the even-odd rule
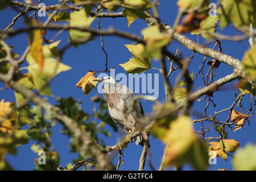
[[[245,52],[242,65],[246,75],[256,81],[256,47]]]

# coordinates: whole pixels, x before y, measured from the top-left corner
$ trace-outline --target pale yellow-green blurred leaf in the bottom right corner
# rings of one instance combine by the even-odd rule
[[[236,152],[232,161],[237,171],[255,171],[256,170],[256,146],[248,143],[245,147]]]

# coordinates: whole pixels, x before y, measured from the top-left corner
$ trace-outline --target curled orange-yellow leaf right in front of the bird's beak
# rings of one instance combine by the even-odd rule
[[[84,92],[85,96],[87,96],[93,88],[96,88],[98,81],[93,81],[97,80],[94,74],[95,72],[88,71],[76,84],[77,87],[82,88],[82,92]]]

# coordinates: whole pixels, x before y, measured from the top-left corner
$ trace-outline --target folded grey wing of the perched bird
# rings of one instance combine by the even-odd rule
[[[139,100],[136,100],[136,96],[133,91],[125,85],[119,86],[122,90],[122,99],[125,101],[127,109],[131,112],[135,119],[144,117],[144,111]],[[135,103],[134,103],[135,102]],[[133,108],[135,107],[135,108]]]

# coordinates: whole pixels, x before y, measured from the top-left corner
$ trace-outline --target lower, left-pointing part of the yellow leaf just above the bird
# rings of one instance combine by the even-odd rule
[[[147,69],[151,68],[150,63],[139,60],[135,57],[132,57],[128,62],[119,65],[126,70],[126,73],[143,73]]]

